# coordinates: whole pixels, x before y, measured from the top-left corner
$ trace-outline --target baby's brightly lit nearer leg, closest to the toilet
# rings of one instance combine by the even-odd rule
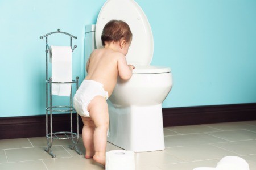
[[[88,111],[92,118],[96,129],[94,131],[93,140],[95,155],[93,159],[105,166],[106,161],[106,141],[107,131],[109,128],[108,104],[102,96],[96,96],[88,105]]]

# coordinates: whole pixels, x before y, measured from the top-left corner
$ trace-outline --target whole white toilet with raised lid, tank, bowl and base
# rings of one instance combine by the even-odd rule
[[[162,103],[171,90],[172,73],[169,67],[150,65],[154,51],[152,31],[134,0],[106,1],[96,25],[85,27],[85,63],[93,49],[102,48],[102,29],[112,19],[130,26],[133,40],[126,59],[135,69],[130,80],[118,78],[107,101],[108,141],[134,152],[164,150]]]

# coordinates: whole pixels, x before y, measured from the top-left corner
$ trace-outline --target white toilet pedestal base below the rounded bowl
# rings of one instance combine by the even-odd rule
[[[125,150],[164,150],[162,104],[152,106],[109,106],[108,141]]]

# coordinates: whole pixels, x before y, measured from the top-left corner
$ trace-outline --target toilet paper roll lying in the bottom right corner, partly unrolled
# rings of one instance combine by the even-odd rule
[[[226,156],[218,162],[216,168],[199,167],[193,170],[250,170],[246,160],[238,156]]]

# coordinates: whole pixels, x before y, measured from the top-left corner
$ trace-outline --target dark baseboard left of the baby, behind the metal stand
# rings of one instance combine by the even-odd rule
[[[49,116],[48,116],[49,117]],[[76,133],[76,113],[73,117],[73,132]],[[49,119],[49,118],[48,118]],[[70,114],[53,114],[52,129],[56,131],[71,131]],[[48,120],[48,133],[50,133]],[[82,120],[79,117],[79,130],[82,129]],[[81,133],[81,131],[79,132]],[[46,136],[46,115],[20,116],[0,118],[0,139],[28,138]]]

